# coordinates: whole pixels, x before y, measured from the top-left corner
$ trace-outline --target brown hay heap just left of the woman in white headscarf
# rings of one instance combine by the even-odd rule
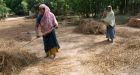
[[[86,34],[104,34],[106,26],[98,21],[91,19],[83,19],[79,21],[76,31]]]

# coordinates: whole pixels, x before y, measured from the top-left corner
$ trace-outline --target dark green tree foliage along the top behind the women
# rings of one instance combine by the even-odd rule
[[[56,15],[77,14],[98,17],[106,6],[112,5],[118,14],[135,15],[140,10],[140,0],[0,0],[0,16],[7,13],[27,15],[35,6],[45,3]]]

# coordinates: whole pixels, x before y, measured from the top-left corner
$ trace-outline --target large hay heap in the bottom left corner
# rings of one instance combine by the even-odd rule
[[[37,63],[35,54],[19,49],[15,41],[0,41],[0,73],[17,75],[24,67]]]

